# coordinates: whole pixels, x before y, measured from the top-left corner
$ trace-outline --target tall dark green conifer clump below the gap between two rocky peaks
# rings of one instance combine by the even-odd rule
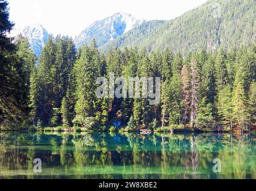
[[[49,36],[38,60],[36,85],[38,87],[37,116],[44,125],[60,124],[60,116],[54,116],[53,108],[60,109],[62,99],[71,85],[71,72],[75,61],[72,39]],[[71,100],[67,100],[71,101]]]

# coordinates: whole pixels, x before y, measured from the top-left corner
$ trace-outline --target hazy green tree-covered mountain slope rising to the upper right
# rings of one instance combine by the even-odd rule
[[[256,42],[255,0],[209,0],[169,21],[147,21],[100,49],[116,47],[170,50],[181,53],[249,45]]]

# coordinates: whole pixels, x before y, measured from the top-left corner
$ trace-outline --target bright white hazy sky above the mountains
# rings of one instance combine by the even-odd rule
[[[118,12],[138,19],[170,20],[206,0],[9,0],[17,27],[42,24],[49,33],[78,35],[93,22]]]

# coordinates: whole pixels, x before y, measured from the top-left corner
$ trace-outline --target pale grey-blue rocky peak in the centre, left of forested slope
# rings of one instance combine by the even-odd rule
[[[97,45],[101,47],[107,42],[118,38],[118,36],[129,32],[134,27],[139,26],[143,21],[127,13],[114,14],[106,19],[96,21],[84,29],[75,38],[76,47],[79,48],[85,43],[90,44],[94,38],[97,41]]]

